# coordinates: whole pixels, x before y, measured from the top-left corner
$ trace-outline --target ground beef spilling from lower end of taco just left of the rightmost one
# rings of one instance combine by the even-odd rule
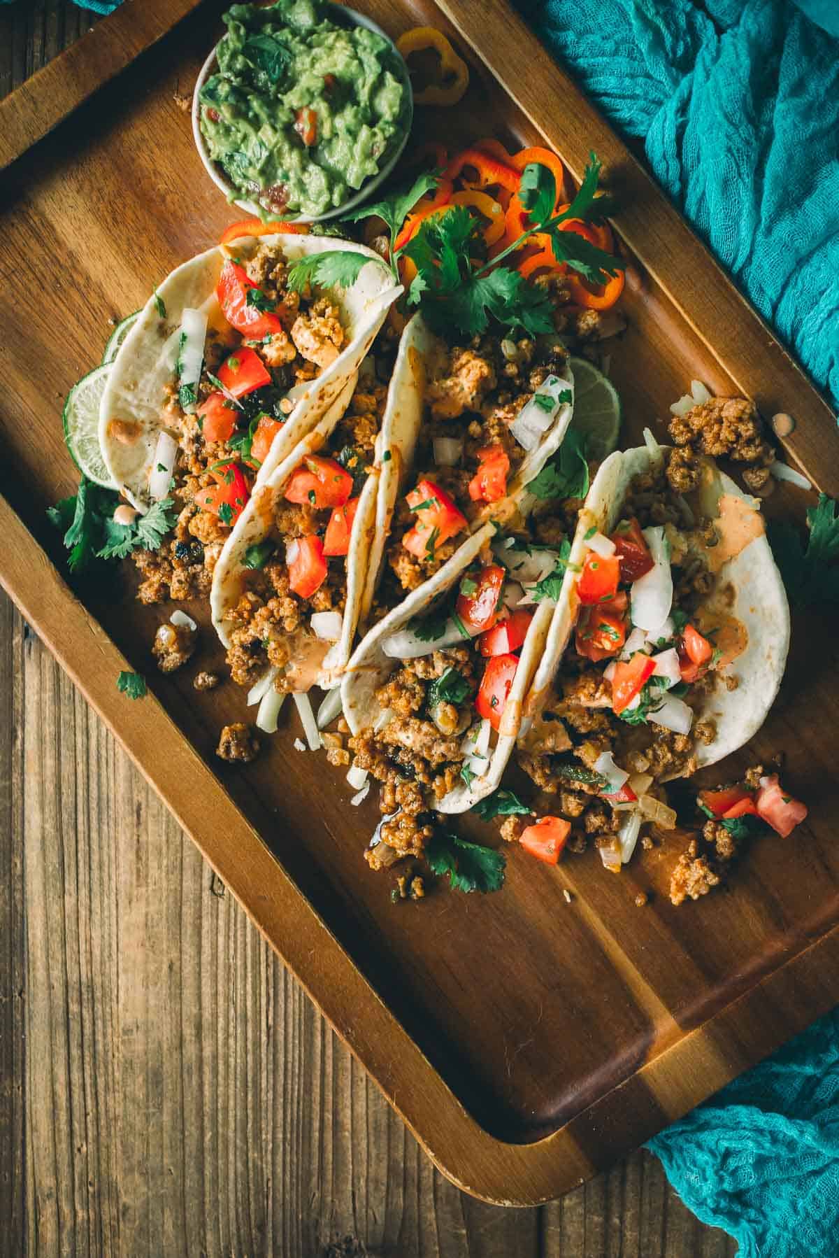
[[[374,868],[421,855],[434,833],[434,809],[460,777],[460,745],[472,723],[477,664],[469,647],[408,660],[376,692],[382,712],[392,713],[389,722],[350,738],[353,764],[381,782],[379,808],[385,818],[367,850]],[[440,703],[429,710],[429,687],[449,668],[470,683],[470,692],[459,706]]]

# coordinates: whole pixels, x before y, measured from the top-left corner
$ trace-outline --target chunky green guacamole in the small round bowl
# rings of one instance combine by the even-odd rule
[[[409,91],[380,35],[322,0],[235,4],[200,93],[214,161],[263,218],[321,215],[376,175],[405,135]]]

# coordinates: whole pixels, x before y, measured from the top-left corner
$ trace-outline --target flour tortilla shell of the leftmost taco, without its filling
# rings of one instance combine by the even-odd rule
[[[372,249],[350,240],[336,240],[333,237],[243,237],[228,245],[208,249],[177,267],[148,298],[123,341],[99,406],[99,444],[104,463],[114,484],[119,486],[140,511],[146,511],[151,504],[148,477],[157,438],[165,426],[162,411],[166,389],[175,379],[182,312],[187,308],[205,311],[208,331],[215,328],[220,335],[229,333],[229,325],[215,296],[215,286],[229,257],[248,259],[260,244],[279,245],[289,262],[332,249],[361,253],[371,262],[362,268],[351,288],[335,291],[335,301],[347,332],[347,345],[335,362],[297,399],[293,411],[274,438],[270,452],[274,465],[314,428],[342,392],[347,380],[357,372],[389,306],[401,292],[401,288],[392,286],[390,272]],[[158,314],[160,302],[166,311],[162,318]],[[136,424],[137,440],[130,445],[116,440],[111,428],[112,419]]]

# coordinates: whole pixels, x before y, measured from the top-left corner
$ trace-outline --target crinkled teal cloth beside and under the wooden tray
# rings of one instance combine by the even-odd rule
[[[781,0],[516,4],[839,405],[839,42]],[[839,1010],[648,1147],[743,1258],[838,1258]]]

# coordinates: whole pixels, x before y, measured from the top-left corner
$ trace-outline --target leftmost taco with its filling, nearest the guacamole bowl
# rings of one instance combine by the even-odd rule
[[[106,465],[140,511],[169,496],[180,452],[194,488],[209,491],[201,508],[230,526],[268,452],[292,450],[332,406],[399,293],[380,259],[346,291],[289,287],[294,263],[333,245],[247,237],[177,267],[150,297],[99,408]]]

